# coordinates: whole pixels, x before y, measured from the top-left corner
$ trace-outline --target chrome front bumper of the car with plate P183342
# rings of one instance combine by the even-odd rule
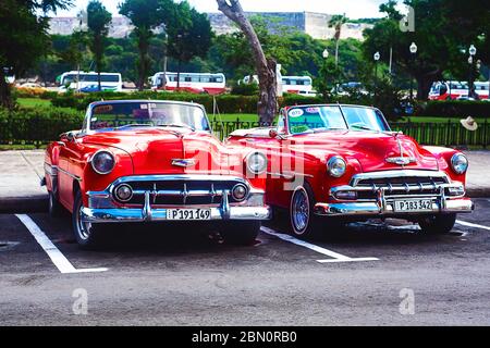
[[[317,203],[315,204],[314,211],[316,215],[320,216],[405,216],[405,215],[420,215],[420,214],[439,214],[439,213],[470,213],[475,210],[475,203],[469,199],[464,197],[464,188],[462,184],[441,184],[434,185],[439,190],[438,195],[409,195],[413,188],[406,188],[406,192],[400,194],[397,196],[389,196],[389,189],[378,188],[376,200],[370,201],[339,201],[330,203]],[[424,187],[422,187],[424,188]],[[445,191],[451,189],[460,189],[457,196],[451,197],[446,196]],[[461,189],[463,189],[461,191]],[[331,189],[331,197],[339,191],[366,191],[370,188],[366,187],[355,187],[355,186],[341,186]],[[395,201],[396,200],[418,200],[418,199],[430,199],[432,201],[432,207],[430,210],[424,211],[396,211]]]

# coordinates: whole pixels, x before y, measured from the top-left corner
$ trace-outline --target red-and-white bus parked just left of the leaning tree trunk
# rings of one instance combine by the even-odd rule
[[[193,94],[220,95],[226,88],[226,78],[223,74],[181,73],[180,89]],[[157,73],[151,77],[151,89],[176,90],[177,73]]]

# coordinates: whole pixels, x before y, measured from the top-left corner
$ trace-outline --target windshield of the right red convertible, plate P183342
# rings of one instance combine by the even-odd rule
[[[390,130],[378,110],[363,107],[294,107],[287,111],[287,120],[291,134],[338,129]]]

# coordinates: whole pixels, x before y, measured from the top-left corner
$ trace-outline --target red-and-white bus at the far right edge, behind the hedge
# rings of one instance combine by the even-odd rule
[[[430,100],[453,100],[468,96],[467,82],[436,82],[429,92]],[[480,99],[489,99],[489,83],[475,83],[475,92]]]

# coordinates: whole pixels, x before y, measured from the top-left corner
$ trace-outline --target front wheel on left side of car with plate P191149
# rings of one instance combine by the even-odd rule
[[[91,224],[82,220],[82,194],[78,190],[73,203],[72,225],[78,246],[83,249],[95,249],[100,245],[103,225]]]

